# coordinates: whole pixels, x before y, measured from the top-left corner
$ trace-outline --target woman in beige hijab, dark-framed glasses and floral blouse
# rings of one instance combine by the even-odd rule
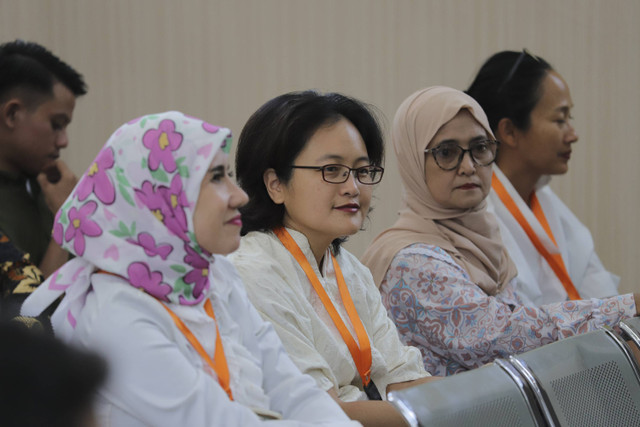
[[[392,140],[403,207],[362,261],[402,341],[420,349],[433,375],[636,314],[633,294],[535,306],[514,290],[516,266],[485,202],[498,144],[473,98],[442,86],[414,93],[396,113]]]

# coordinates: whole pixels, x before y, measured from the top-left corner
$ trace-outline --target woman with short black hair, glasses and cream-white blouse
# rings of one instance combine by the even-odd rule
[[[301,371],[352,419],[402,425],[379,400],[430,376],[398,339],[369,270],[340,247],[362,227],[382,161],[380,128],[362,103],[313,91],[268,101],[239,138],[249,203],[231,260]]]

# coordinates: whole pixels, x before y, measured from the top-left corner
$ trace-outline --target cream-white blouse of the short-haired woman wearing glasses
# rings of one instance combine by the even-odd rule
[[[311,264],[345,325],[355,337],[338,290],[333,265],[325,255],[322,271],[307,238],[288,229]],[[251,302],[273,323],[291,359],[320,388],[334,389],[343,401],[366,400],[349,348],[295,258],[273,233],[252,232],[230,255]],[[344,248],[336,256],[371,342],[371,379],[385,398],[389,384],[428,376],[420,352],[400,342],[370,271]]]

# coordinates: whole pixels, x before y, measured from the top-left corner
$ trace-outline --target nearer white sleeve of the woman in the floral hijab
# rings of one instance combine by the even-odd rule
[[[112,301],[86,323],[89,333],[78,331],[82,344],[109,364],[101,391],[107,401],[158,427],[259,423],[249,408],[230,401],[216,379],[185,357],[179,348],[184,343],[175,341],[180,332],[168,314],[135,302]],[[157,308],[162,310],[159,304]]]

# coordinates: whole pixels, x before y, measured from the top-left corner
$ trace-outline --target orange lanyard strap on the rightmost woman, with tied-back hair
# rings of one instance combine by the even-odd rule
[[[518,206],[516,205],[515,201],[511,198],[511,196],[507,192],[507,189],[504,188],[504,185],[502,184],[502,182],[500,182],[500,180],[498,179],[495,173],[493,174],[493,177],[491,180],[491,187],[496,192],[496,194],[498,195],[502,203],[505,205],[505,207],[509,210],[511,215],[513,215],[516,221],[518,221],[518,224],[520,224],[520,227],[522,227],[524,232],[527,234],[527,236],[529,237],[529,240],[531,240],[531,243],[533,243],[533,246],[538,250],[540,255],[544,257],[544,259],[547,261],[547,263],[549,264],[549,266],[551,267],[555,275],[558,277],[558,279],[560,279],[560,282],[562,283],[562,286],[567,292],[569,299],[572,299],[572,300],[581,299],[580,294],[578,293],[575,286],[573,285],[573,281],[571,280],[571,277],[569,277],[569,273],[567,272],[567,267],[564,265],[564,261],[562,260],[562,256],[560,255],[560,253],[558,252],[556,254],[551,254],[547,250],[547,248],[544,247],[544,245],[538,238],[537,234],[533,231],[533,229],[531,228],[531,225],[529,225],[529,223],[527,222],[522,212],[520,212],[520,209],[518,209]],[[533,195],[531,196],[531,205],[532,205],[531,209],[534,215],[536,216],[536,218],[538,219],[538,221],[540,222],[540,224],[542,225],[542,228],[544,228],[549,238],[551,238],[551,241],[557,247],[558,244],[556,243],[556,240],[553,237],[553,233],[551,232],[551,227],[549,227],[547,218],[544,216],[544,212],[542,211],[542,207],[540,206],[540,202],[538,201],[538,198],[536,197],[535,193],[533,193]]]

